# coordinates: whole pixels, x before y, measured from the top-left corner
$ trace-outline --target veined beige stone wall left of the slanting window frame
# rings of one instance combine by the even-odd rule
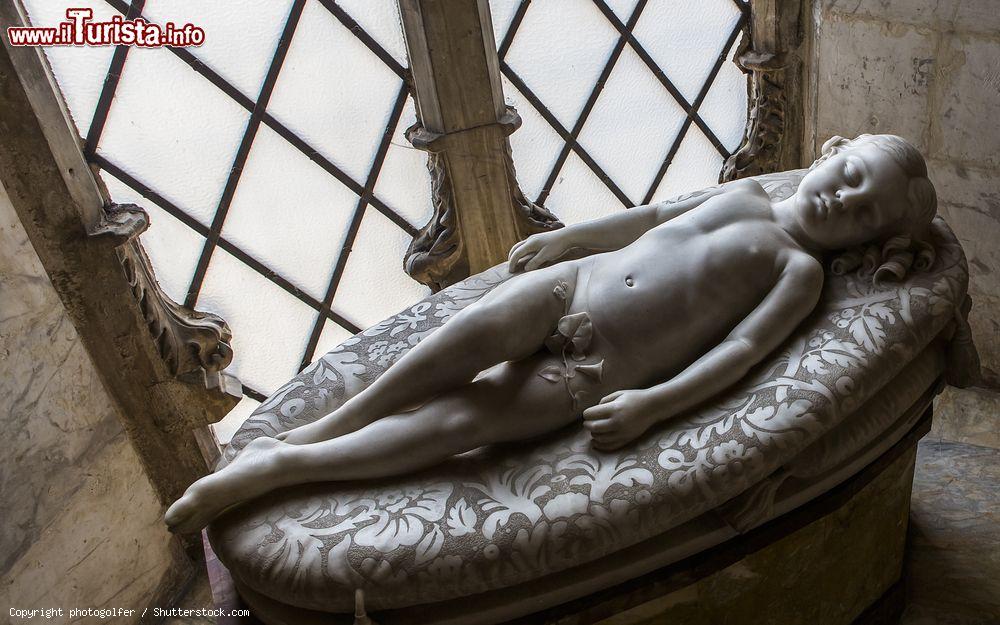
[[[2,187],[0,439],[0,606],[166,606],[191,565]]]

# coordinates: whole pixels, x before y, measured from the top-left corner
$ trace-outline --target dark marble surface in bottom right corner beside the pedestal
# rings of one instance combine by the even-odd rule
[[[904,624],[1000,623],[1000,449],[921,443],[906,573]]]

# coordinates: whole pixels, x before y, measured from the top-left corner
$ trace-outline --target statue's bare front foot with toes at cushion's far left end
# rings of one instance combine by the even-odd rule
[[[284,447],[273,438],[251,441],[229,466],[192,484],[167,509],[163,516],[167,527],[172,532],[196,532],[226,508],[281,486],[275,452]]]

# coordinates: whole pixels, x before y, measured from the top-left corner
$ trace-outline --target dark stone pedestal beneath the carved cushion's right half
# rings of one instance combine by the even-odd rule
[[[914,441],[915,443],[915,441]],[[516,621],[559,625],[705,625],[809,623],[848,625],[888,623],[898,618],[900,580],[906,542],[915,444],[897,457],[843,505],[804,527],[696,581],[699,569],[714,558],[741,551],[739,541],[719,552],[678,563],[671,573],[657,572],[632,588],[608,592],[591,606],[563,606],[540,618]],[[794,514],[794,513],[793,513]],[[772,536],[789,519],[761,528]],[[687,565],[686,567],[683,565]],[[676,569],[677,567],[669,567]],[[632,586],[631,584],[629,586]],[[602,593],[603,594],[603,593]],[[614,596],[617,595],[617,596]],[[650,598],[655,597],[655,598]],[[638,603],[638,605],[636,605]],[[631,606],[631,607],[629,607]],[[557,612],[562,614],[557,614]]]

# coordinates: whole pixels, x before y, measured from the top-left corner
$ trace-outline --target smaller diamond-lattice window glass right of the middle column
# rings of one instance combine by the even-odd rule
[[[511,139],[530,198],[575,223],[716,182],[746,124],[746,78],[731,61],[748,4],[497,4],[505,95],[531,137]]]

